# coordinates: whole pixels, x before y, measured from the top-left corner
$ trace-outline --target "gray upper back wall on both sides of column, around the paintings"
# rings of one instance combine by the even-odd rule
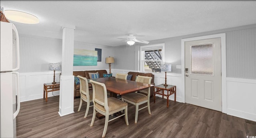
[[[62,62],[62,40],[19,34],[20,37],[20,69],[19,72],[47,72],[49,63]],[[102,49],[102,61],[97,66],[74,66],[73,70],[108,69],[105,59],[113,56],[113,47],[96,44],[74,42],[74,48],[95,50]],[[114,64],[111,64],[114,68]]]

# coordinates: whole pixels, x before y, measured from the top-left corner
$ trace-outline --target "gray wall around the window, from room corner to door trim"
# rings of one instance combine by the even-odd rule
[[[181,65],[181,37],[164,38],[150,41],[149,44],[135,44],[134,46],[119,46],[114,49],[114,57],[122,64],[115,66],[115,69],[139,70],[139,51],[140,46],[165,44],[165,63],[172,64],[172,73],[181,74],[181,69],[176,69],[176,65]],[[132,51],[133,50],[133,51]],[[133,63],[134,62],[134,63]],[[128,64],[127,64],[128,63]],[[127,66],[129,65],[129,66]]]

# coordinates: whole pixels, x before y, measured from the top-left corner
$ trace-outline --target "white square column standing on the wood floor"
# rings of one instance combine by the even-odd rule
[[[62,27],[62,75],[60,76],[59,115],[74,113],[74,30],[75,26]]]

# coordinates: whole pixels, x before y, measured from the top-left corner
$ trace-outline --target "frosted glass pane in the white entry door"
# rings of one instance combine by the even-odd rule
[[[213,44],[191,46],[191,74],[214,76]]]

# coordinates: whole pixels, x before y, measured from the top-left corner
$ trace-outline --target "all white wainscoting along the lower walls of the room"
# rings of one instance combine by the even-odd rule
[[[108,71],[108,70],[107,70]],[[136,70],[117,70],[112,69],[113,76],[116,73],[138,72]],[[165,82],[164,73],[154,73],[155,85]],[[184,95],[182,92],[182,77],[181,74],[167,73],[167,84],[176,86],[176,101],[182,102]],[[227,114],[256,121],[256,80],[227,78],[226,93],[227,93]],[[43,98],[44,83],[53,81],[53,72],[30,72],[20,73],[20,101],[36,100]],[[55,81],[60,81],[60,71],[56,71]],[[54,95],[59,95],[59,91],[53,92]],[[48,97],[54,96],[52,92],[48,93]],[[169,97],[169,100],[174,100],[174,95]],[[224,102],[224,101],[222,101]]]

